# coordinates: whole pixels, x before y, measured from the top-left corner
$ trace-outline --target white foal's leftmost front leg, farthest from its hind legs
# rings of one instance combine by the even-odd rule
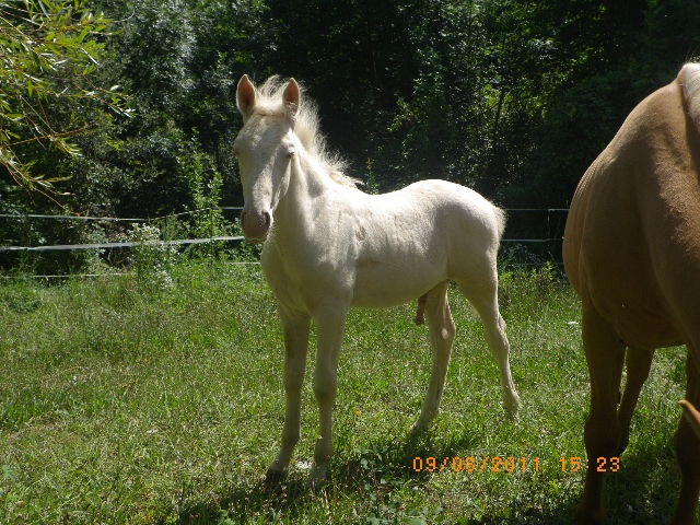
[[[287,407],[284,411],[284,428],[280,452],[270,465],[265,479],[277,482],[284,478],[289,469],[294,446],[301,434],[302,384],[306,370],[306,353],[308,351],[310,317],[285,311],[280,306],[280,318],[284,330],[284,395]]]

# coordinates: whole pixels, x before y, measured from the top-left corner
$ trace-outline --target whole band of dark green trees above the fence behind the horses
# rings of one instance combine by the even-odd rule
[[[73,212],[120,215],[241,203],[243,73],[304,82],[372,190],[438,177],[504,206],[565,207],[630,109],[700,49],[693,0],[0,5],[5,168],[56,182]],[[133,118],[110,109],[115,84]],[[0,183],[0,210],[54,206]]]

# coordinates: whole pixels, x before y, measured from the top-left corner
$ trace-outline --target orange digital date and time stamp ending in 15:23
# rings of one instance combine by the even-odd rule
[[[415,471],[428,472],[539,472],[542,463],[540,458],[535,457],[514,457],[514,456],[454,456],[454,457],[421,457],[413,458],[412,468]],[[563,472],[578,472],[580,470],[595,469],[598,472],[617,472],[620,469],[619,457],[596,457],[590,462],[585,457],[570,456],[560,457],[559,465]]]

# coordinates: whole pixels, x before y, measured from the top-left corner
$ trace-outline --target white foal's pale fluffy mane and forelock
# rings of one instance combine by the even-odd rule
[[[279,75],[268,78],[262,85],[256,88],[254,114],[270,116],[287,116],[288,110],[282,103],[282,93],[287,81]],[[318,110],[308,97],[303,96],[305,89],[300,85],[302,98],[300,107],[294,115],[294,132],[308,153],[314,155],[331,179],[343,186],[357,187],[362,184],[357,178],[349,177],[343,172],[347,168],[346,161],[335,152],[330,152],[326,145],[326,138],[320,132]]]

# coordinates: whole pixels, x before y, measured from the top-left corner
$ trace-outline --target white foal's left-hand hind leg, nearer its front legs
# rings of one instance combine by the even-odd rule
[[[423,408],[420,418],[411,428],[411,434],[424,431],[432,423],[440,411],[440,401],[445,389],[445,376],[447,375],[452,343],[455,340],[455,324],[447,302],[448,284],[448,281],[442,282],[424,295],[424,311],[430,329],[433,365]]]

